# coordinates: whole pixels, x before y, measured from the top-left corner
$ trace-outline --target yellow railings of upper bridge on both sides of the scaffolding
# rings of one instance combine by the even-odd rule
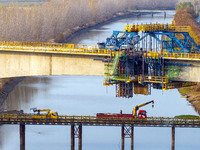
[[[130,26],[130,25],[129,25]],[[32,53],[56,53],[75,54],[88,56],[115,56],[116,52],[110,49],[100,49],[98,45],[85,44],[64,44],[64,43],[43,43],[43,42],[10,42],[0,41],[0,51],[32,52]],[[148,52],[147,57],[180,60],[200,60],[200,54],[192,53],[168,53]]]

